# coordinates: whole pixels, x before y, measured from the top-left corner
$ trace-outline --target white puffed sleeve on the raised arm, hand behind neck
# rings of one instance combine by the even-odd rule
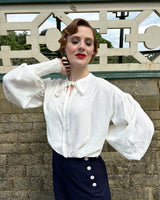
[[[41,76],[60,71],[57,58],[34,65],[22,64],[3,77],[6,98],[22,108],[42,106],[46,80]]]

